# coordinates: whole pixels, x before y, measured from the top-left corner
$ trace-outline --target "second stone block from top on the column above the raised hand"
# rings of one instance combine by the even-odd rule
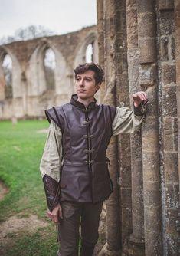
[[[154,13],[144,13],[138,17],[139,38],[155,37],[155,15]]]

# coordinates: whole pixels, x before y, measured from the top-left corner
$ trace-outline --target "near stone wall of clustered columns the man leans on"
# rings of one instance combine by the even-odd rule
[[[137,90],[150,100],[142,131],[110,143],[115,191],[100,255],[178,256],[180,1],[98,0],[97,14],[103,102],[132,106]]]

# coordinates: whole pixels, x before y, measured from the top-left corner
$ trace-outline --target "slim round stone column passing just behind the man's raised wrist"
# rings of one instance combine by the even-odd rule
[[[137,1],[126,1],[127,20],[127,56],[129,74],[130,99],[139,87],[139,48],[138,48],[138,25],[137,25]],[[133,100],[131,101],[133,105]],[[132,176],[132,219],[133,233],[130,240],[134,244],[142,244],[136,253],[144,251],[144,212],[143,212],[143,184],[142,184],[142,143],[141,130],[131,135],[131,176]],[[135,245],[134,245],[135,246]]]

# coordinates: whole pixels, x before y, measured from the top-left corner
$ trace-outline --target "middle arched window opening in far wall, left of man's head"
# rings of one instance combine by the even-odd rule
[[[56,58],[54,51],[51,48],[47,48],[44,51],[44,73],[47,85],[47,90],[54,90],[55,88],[55,76],[54,71],[56,67]]]

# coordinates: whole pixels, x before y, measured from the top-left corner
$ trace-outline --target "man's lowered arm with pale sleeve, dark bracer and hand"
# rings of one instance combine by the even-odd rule
[[[62,156],[61,137],[60,128],[51,120],[44,146],[44,153],[41,159],[40,171],[47,198],[47,215],[54,222],[58,222],[58,217],[62,218],[61,206],[58,200]]]

